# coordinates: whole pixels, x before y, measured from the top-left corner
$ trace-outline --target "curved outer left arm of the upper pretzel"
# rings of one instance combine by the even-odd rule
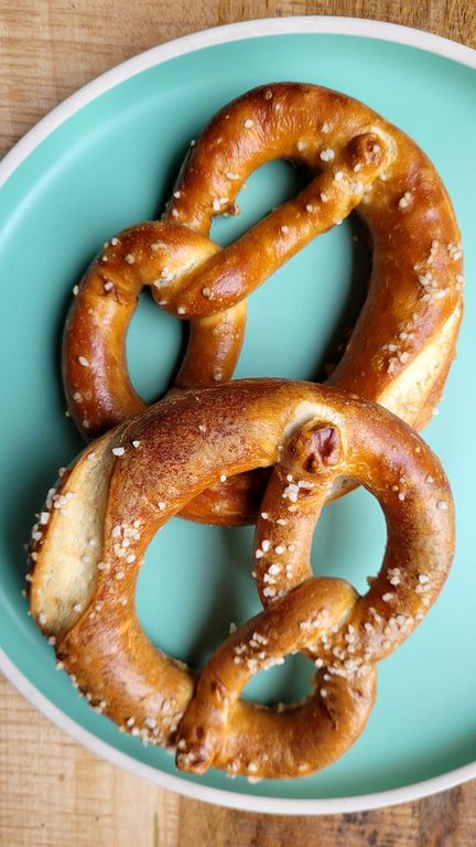
[[[73,300],[63,337],[68,408],[87,438],[147,407],[130,382],[126,362],[126,335],[142,289],[148,286],[160,300],[175,302],[178,274],[218,249],[186,227],[149,222],[119,233],[93,261]],[[242,315],[242,309],[231,313],[228,326],[235,325],[235,334],[220,340],[219,361],[227,374],[239,354],[235,335],[245,330]],[[195,349],[192,343],[188,358]]]

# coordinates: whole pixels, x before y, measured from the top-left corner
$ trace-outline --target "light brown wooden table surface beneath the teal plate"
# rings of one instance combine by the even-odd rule
[[[476,47],[473,0],[0,0],[0,156],[84,83],[188,32],[252,18],[342,14]],[[0,847],[476,845],[476,782],[377,812],[247,814],[181,798],[101,761],[0,679]]]

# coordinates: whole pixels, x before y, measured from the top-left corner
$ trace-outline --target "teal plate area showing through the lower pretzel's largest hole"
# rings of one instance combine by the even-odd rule
[[[252,528],[225,529],[172,518],[155,535],[140,569],[136,603],[151,641],[203,667],[231,621],[258,614]]]

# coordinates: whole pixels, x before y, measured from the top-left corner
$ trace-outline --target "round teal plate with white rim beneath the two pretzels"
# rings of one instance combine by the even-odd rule
[[[109,760],[204,801],[264,812],[323,813],[400,802],[476,775],[476,596],[474,479],[475,293],[467,288],[458,357],[441,415],[425,436],[453,485],[457,549],[442,597],[411,639],[379,668],[379,694],[354,748],[325,771],[294,781],[230,781],[218,771],[177,775],[173,758],[120,735],[78,699],[52,648],[26,615],[22,544],[56,469],[82,447],[65,417],[60,336],[73,286],[118,229],[158,216],[192,137],[225,103],[271,81],[331,86],[377,109],[431,157],[453,199],[466,276],[476,272],[476,54],[403,28],[296,18],[198,33],[149,51],[78,92],[45,118],[0,165],[3,480],[0,550],[1,667],[56,723]],[[213,236],[237,237],[290,196],[299,173],[262,168],[239,199],[238,219]],[[237,376],[312,379],[337,329],[364,296],[369,257],[345,222],[310,245],[252,294]],[[294,290],[291,292],[291,288]],[[270,318],[272,315],[272,320]],[[143,297],[128,356],[152,399],[182,349],[178,321]],[[6,496],[8,491],[8,496]],[[250,529],[172,521],[153,540],[138,586],[138,610],[155,644],[203,663],[259,610],[250,578]],[[314,545],[316,573],[363,589],[385,546],[377,504],[357,491],[328,506]],[[193,551],[193,553],[192,553]],[[166,561],[166,567],[164,564]],[[256,677],[247,695],[293,699],[310,683],[300,657]]]

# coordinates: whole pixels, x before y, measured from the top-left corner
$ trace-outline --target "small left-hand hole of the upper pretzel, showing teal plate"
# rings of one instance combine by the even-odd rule
[[[173,384],[186,341],[187,324],[158,309],[144,289],[127,333],[126,356],[131,383],[147,403]]]

